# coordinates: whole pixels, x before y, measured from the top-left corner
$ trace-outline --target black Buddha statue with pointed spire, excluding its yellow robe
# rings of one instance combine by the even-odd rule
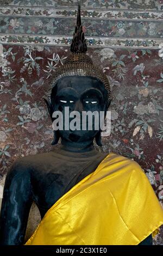
[[[109,81],[85,54],[87,46],[80,19],[80,4],[70,50],[64,66],[55,71],[47,97],[44,97],[52,121],[54,111],[65,115],[65,107],[69,107],[70,112],[106,113],[110,105]],[[43,219],[62,196],[93,173],[108,155],[99,153],[93,147],[94,139],[97,145],[102,145],[100,129],[54,131],[52,144],[57,144],[59,138],[59,148],[54,147],[48,153],[20,157],[10,167],[2,200],[1,245],[23,245],[32,203],[36,203]],[[95,200],[94,204],[98,205],[98,202]],[[148,232],[139,244],[152,245],[151,233]],[[68,241],[65,244],[69,244]]]

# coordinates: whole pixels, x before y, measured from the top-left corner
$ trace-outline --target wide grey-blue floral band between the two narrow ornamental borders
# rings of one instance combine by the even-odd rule
[[[0,33],[73,34],[76,19],[38,19],[27,17],[0,17]],[[162,22],[83,20],[86,36],[157,37],[163,38]]]

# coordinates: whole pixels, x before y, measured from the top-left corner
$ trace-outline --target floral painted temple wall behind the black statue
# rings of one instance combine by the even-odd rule
[[[163,207],[162,10],[162,0],[83,0],[81,14],[87,54],[108,76],[112,91],[111,135],[97,150],[137,161]],[[42,96],[68,56],[76,15],[73,0],[0,1],[1,198],[17,157],[54,147]],[[35,211],[27,236],[40,218]],[[162,228],[154,245],[163,245]]]

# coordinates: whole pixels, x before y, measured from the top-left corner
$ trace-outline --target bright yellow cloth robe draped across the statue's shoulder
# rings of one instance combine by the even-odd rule
[[[161,224],[139,164],[110,153],[47,211],[26,245],[137,245]]]

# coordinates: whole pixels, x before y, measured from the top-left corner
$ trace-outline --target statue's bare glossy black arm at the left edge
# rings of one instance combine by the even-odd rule
[[[0,217],[0,244],[22,245],[26,233],[32,189],[30,174],[21,160],[15,161],[5,179]]]

